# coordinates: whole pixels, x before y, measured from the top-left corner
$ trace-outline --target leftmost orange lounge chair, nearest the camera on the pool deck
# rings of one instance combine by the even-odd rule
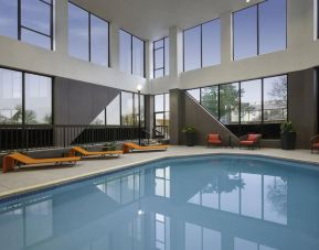
[[[49,163],[71,163],[75,164],[81,157],[52,157],[52,159],[33,159],[21,153],[8,154],[3,157],[2,172],[13,171],[17,165],[39,165]]]

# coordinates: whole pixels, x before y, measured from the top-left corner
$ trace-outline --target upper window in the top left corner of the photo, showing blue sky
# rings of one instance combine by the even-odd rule
[[[52,0],[0,0],[0,34],[53,48]]]

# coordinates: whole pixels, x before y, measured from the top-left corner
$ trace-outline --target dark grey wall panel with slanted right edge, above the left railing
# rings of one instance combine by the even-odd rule
[[[119,94],[119,89],[55,77],[54,123],[89,124]]]

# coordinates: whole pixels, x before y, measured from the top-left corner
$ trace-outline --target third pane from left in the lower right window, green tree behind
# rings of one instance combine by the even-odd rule
[[[220,86],[220,120],[224,124],[240,122],[240,87],[238,84]]]

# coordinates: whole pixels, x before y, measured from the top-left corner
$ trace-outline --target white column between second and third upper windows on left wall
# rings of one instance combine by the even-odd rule
[[[109,66],[119,70],[119,28],[109,23]]]

